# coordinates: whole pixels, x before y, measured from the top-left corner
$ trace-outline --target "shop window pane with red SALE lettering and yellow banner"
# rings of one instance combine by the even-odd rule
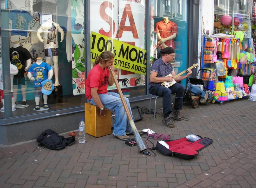
[[[145,3],[139,0],[90,1],[91,68],[101,52],[112,51],[115,75],[125,97],[146,93]],[[118,92],[115,84],[108,86],[108,91]]]

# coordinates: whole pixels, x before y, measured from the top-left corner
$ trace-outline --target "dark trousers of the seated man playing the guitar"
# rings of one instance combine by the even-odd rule
[[[185,87],[180,83],[176,83],[169,88],[157,85],[149,89],[150,94],[163,97],[164,115],[171,113],[171,94],[176,93],[175,109],[182,109],[184,91]]]

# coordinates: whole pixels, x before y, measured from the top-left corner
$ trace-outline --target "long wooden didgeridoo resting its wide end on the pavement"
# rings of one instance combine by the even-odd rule
[[[142,139],[141,139],[141,136],[140,136],[140,134],[138,133],[138,130],[137,130],[137,128],[136,128],[136,126],[135,126],[135,124],[134,124],[134,122],[133,122],[132,116],[131,116],[130,111],[129,111],[128,107],[127,107],[127,104],[126,104],[126,102],[125,102],[123,93],[122,93],[122,91],[121,91],[121,88],[120,88],[120,86],[119,86],[118,80],[117,80],[116,77],[115,77],[115,72],[114,72],[113,70],[111,70],[111,75],[112,75],[112,77],[113,77],[113,79],[114,79],[116,89],[117,89],[117,91],[118,91],[118,93],[119,93],[119,95],[120,95],[121,101],[122,101],[123,106],[124,106],[124,110],[125,110],[125,112],[126,112],[126,115],[127,115],[128,120],[129,120],[129,123],[130,123],[130,125],[131,125],[131,127],[132,127],[132,130],[133,130],[133,133],[134,133],[136,142],[137,142],[138,149],[139,149],[140,152],[141,152],[141,151],[145,151],[147,148],[146,148],[146,146],[144,145],[144,143],[143,143],[143,141],[142,141]],[[144,153],[144,152],[143,152],[143,153]],[[144,154],[147,154],[147,153],[144,153]],[[149,155],[150,155],[150,154],[149,154]]]

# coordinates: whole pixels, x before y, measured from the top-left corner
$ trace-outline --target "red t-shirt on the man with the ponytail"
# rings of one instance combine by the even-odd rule
[[[88,77],[85,82],[85,95],[89,100],[91,99],[91,87],[98,88],[97,93],[107,93],[109,83],[109,70],[108,68],[102,69],[99,64],[95,65],[89,71]]]

